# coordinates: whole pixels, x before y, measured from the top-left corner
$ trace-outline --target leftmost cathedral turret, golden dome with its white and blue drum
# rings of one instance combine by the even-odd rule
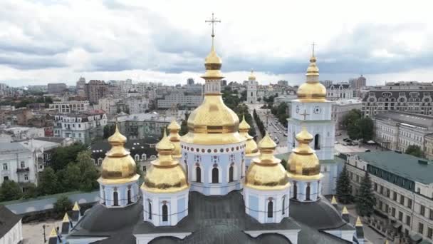
[[[100,204],[107,208],[121,208],[137,203],[139,198],[137,168],[134,158],[124,147],[126,137],[118,129],[108,138],[111,149],[102,163],[102,173],[98,179]]]

